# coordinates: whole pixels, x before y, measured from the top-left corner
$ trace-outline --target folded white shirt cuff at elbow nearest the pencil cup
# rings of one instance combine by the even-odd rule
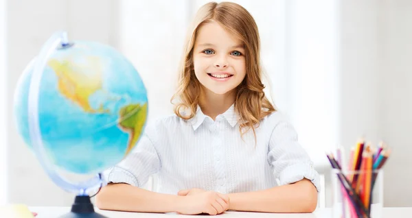
[[[310,180],[318,192],[321,191],[319,173],[313,169],[312,165],[306,165],[304,163],[291,165],[286,167],[279,175],[280,185],[299,182],[304,178]]]

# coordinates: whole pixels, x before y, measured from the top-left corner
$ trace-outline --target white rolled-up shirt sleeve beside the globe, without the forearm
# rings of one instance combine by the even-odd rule
[[[142,186],[150,175],[159,171],[161,162],[155,145],[148,134],[142,134],[141,137],[135,149],[122,162],[104,173],[106,182]]]

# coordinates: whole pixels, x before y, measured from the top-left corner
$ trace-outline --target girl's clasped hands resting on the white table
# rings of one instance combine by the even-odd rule
[[[196,195],[181,196],[178,202],[177,213],[184,215],[197,215],[201,213],[218,215],[228,209],[229,197],[227,195],[214,191],[203,191]]]

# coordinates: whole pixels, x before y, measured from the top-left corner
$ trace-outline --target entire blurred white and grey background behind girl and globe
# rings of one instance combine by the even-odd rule
[[[186,27],[207,2],[0,0],[0,203],[73,202],[47,177],[12,119],[16,82],[49,36],[65,30],[73,40],[124,53],[148,89],[150,122],[172,114]],[[348,150],[361,136],[393,149],[384,206],[412,206],[412,1],[234,2],[258,23],[266,93],[293,121],[322,175],[320,206],[331,202],[325,151]]]

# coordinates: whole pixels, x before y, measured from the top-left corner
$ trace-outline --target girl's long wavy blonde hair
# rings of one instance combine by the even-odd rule
[[[219,23],[244,44],[247,71],[244,80],[237,87],[235,111],[240,118],[240,134],[243,136],[245,132],[252,129],[256,137],[255,128],[259,126],[260,120],[274,112],[275,108],[263,91],[258,26],[251,14],[236,3],[210,2],[203,5],[196,13],[183,51],[184,56],[179,69],[179,87],[171,99],[172,104],[176,97],[180,100],[174,104],[174,113],[186,120],[196,114],[201,83],[194,74],[193,47],[199,27],[211,21]],[[189,113],[182,114],[182,109],[188,109]],[[242,132],[243,128],[247,130]]]

